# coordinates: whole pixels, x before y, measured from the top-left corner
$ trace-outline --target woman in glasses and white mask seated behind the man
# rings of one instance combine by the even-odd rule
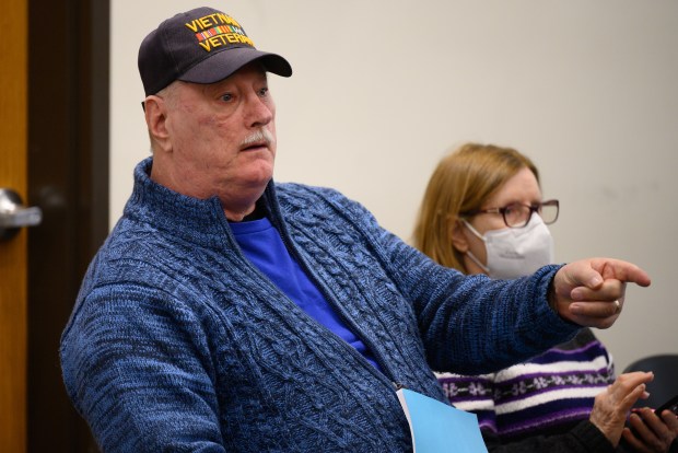
[[[465,274],[518,278],[553,262],[547,224],[558,213],[558,200],[542,200],[539,172],[528,158],[467,143],[431,176],[414,245]],[[678,433],[668,415],[664,423],[647,409],[641,413],[646,425],[636,416],[630,420],[636,435],[623,428],[641,396],[621,390],[632,380],[629,373],[615,381],[611,358],[588,328],[493,374],[439,374],[449,402],[477,414],[490,451],[616,451],[623,430],[627,442],[617,451],[666,452]]]

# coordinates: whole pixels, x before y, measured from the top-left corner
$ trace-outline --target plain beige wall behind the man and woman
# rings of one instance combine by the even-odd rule
[[[561,200],[557,258],[613,256],[654,281],[599,332],[618,363],[678,352],[678,2],[259,0],[213,3],[284,55],[278,181],[339,188],[408,240],[428,177],[466,140],[512,146]],[[225,5],[224,5],[225,4]],[[142,37],[202,2],[112,1],[112,212],[149,155]]]

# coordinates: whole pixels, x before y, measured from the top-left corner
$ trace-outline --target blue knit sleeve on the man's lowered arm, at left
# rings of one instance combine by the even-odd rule
[[[202,330],[156,288],[112,284],[81,301],[63,380],[103,451],[224,451]]]

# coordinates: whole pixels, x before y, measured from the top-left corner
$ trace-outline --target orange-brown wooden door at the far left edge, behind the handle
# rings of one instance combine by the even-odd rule
[[[0,187],[25,201],[27,0],[0,14]],[[0,451],[26,450],[26,231],[0,242]]]

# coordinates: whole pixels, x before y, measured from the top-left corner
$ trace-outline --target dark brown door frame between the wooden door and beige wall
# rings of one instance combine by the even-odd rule
[[[108,233],[109,0],[28,1],[27,450],[96,451],[61,380],[59,340]],[[44,34],[38,31],[47,30]]]

